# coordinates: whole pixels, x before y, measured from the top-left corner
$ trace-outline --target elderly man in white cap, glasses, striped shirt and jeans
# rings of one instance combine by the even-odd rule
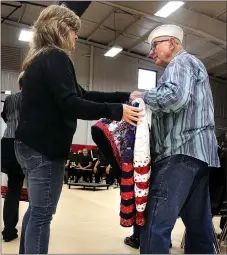
[[[135,91],[153,111],[155,159],[140,252],[168,253],[178,215],[186,226],[185,253],[212,254],[209,168],[219,167],[209,76],[200,60],[182,46],[175,25],[155,28],[150,56],[165,68],[157,87]]]

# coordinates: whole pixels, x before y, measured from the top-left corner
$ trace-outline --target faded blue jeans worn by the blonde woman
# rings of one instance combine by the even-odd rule
[[[29,195],[19,253],[47,254],[50,222],[61,194],[65,162],[50,161],[18,140],[15,141],[15,153],[27,180]]]

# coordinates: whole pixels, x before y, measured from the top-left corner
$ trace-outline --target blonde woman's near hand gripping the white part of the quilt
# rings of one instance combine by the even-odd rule
[[[131,124],[132,126],[136,127],[140,119],[144,116],[144,114],[141,112],[141,109],[133,106],[129,106],[126,104],[123,104],[123,115],[122,119],[126,121],[127,123]]]

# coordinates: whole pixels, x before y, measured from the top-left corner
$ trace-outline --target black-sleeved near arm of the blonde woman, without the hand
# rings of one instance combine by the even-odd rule
[[[76,77],[68,56],[60,50],[46,54],[46,80],[63,114],[72,119],[121,120],[122,104],[95,103],[78,95]]]

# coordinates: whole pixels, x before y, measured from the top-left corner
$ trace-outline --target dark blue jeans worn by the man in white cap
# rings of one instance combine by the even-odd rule
[[[186,226],[185,253],[213,254],[209,168],[185,155],[154,164],[141,227],[141,254],[168,254],[171,231],[178,215]]]

